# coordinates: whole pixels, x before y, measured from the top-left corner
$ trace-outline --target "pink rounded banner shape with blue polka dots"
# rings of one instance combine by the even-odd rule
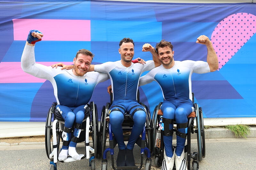
[[[256,33],[256,16],[250,13],[232,14],[215,27],[212,45],[219,61],[220,70],[237,51]]]

